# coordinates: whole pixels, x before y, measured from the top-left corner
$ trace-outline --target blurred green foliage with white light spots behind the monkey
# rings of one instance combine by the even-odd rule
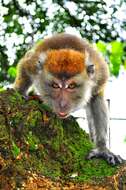
[[[81,35],[105,56],[112,75],[126,69],[126,1],[0,0],[0,84],[37,40],[57,32]]]

